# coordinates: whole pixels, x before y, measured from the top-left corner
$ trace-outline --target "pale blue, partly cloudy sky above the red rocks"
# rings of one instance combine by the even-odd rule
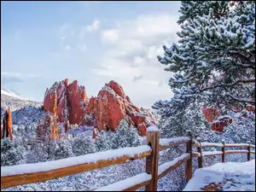
[[[177,42],[180,2],[3,2],[1,88],[43,102],[55,81],[96,96],[118,82],[131,102],[169,100],[172,73],[157,60]]]

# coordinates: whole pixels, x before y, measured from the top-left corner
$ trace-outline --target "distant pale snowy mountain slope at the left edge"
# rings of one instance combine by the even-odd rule
[[[3,109],[10,106],[11,110],[15,111],[25,106],[41,107],[42,105],[42,102],[26,100],[12,90],[1,89],[1,108]]]

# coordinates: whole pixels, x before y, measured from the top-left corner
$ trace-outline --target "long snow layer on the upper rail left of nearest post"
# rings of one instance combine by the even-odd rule
[[[85,154],[69,157],[62,160],[52,160],[42,163],[23,164],[17,166],[1,166],[1,177],[32,172],[49,172],[68,166],[76,166],[85,163],[96,163],[99,160],[113,160],[125,155],[131,156],[131,158],[133,158],[135,154],[142,154],[149,151],[151,151],[151,148],[148,145],[143,145],[139,147],[118,148],[115,150],[103,151],[96,154]]]

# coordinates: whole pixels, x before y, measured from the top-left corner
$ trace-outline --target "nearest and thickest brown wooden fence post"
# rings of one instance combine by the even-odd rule
[[[159,131],[147,132],[147,143],[151,146],[152,152],[146,158],[146,172],[151,174],[152,179],[146,185],[145,191],[157,191],[158,161],[159,161]]]

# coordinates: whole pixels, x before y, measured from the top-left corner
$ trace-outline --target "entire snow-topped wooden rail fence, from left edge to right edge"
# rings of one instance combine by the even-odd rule
[[[124,154],[119,156],[109,156],[108,159],[99,159],[95,162],[88,161],[84,163],[77,163],[76,165],[68,165],[67,166],[60,166],[52,168],[47,167],[49,162],[38,163],[38,170],[35,172],[26,172],[25,166],[26,165],[18,165],[13,167],[1,167],[8,172],[8,169],[16,169],[17,172],[8,173],[2,175],[1,169],[1,189],[17,186],[20,184],[28,184],[28,183],[37,183],[42,181],[47,181],[49,179],[58,178],[69,176],[73,174],[77,174],[80,172],[88,172],[91,170],[99,169],[105,166],[117,165],[117,164],[125,164],[129,163],[130,160],[138,160],[142,158],[146,158],[146,169],[145,172],[134,176],[129,177],[125,180],[119,181],[117,183],[110,184],[106,187],[96,189],[96,191],[103,191],[103,190],[119,190],[119,191],[134,191],[139,189],[140,187],[145,186],[146,191],[156,191],[157,190],[157,181],[161,177],[164,177],[168,172],[172,172],[177,167],[186,164],[185,174],[186,174],[186,182],[189,182],[189,179],[192,177],[192,158],[198,158],[198,166],[202,167],[202,158],[203,156],[213,156],[213,155],[222,155],[222,161],[225,161],[225,154],[247,154],[247,160],[250,160],[250,155],[255,154],[255,151],[252,151],[251,148],[255,148],[254,145],[251,144],[229,144],[229,143],[201,143],[200,141],[195,141],[192,136],[191,131],[186,132],[186,137],[177,137],[177,138],[170,138],[170,139],[160,139],[159,131],[148,131],[147,133],[147,143],[148,145],[146,149],[144,148],[143,151],[137,152],[136,154]],[[159,152],[160,150],[164,150],[166,148],[172,148],[181,144],[186,144],[186,154],[183,154],[177,157],[175,160],[169,161],[164,163],[163,165],[159,166]],[[149,148],[149,147],[150,148]],[[193,152],[192,148],[195,146],[198,151]],[[140,147],[130,148],[134,151],[140,151]],[[219,152],[203,152],[203,147],[221,147],[222,151]],[[227,147],[247,147],[247,150],[226,150]],[[122,149],[122,148],[120,148]],[[119,149],[115,150],[118,151]],[[113,151],[106,151],[96,153],[95,155],[109,155]],[[94,154],[85,154],[80,156],[79,158],[90,159],[90,157]],[[78,157],[73,157],[78,158]],[[58,164],[60,162],[64,162],[66,159],[63,160],[55,160],[55,163]],[[76,159],[80,160],[80,159]],[[53,161],[52,161],[53,162]],[[44,166],[40,168],[40,166]],[[45,168],[46,167],[46,168]],[[19,170],[21,170],[19,172]],[[23,170],[23,171],[22,171]],[[25,171],[24,171],[25,170]]]

